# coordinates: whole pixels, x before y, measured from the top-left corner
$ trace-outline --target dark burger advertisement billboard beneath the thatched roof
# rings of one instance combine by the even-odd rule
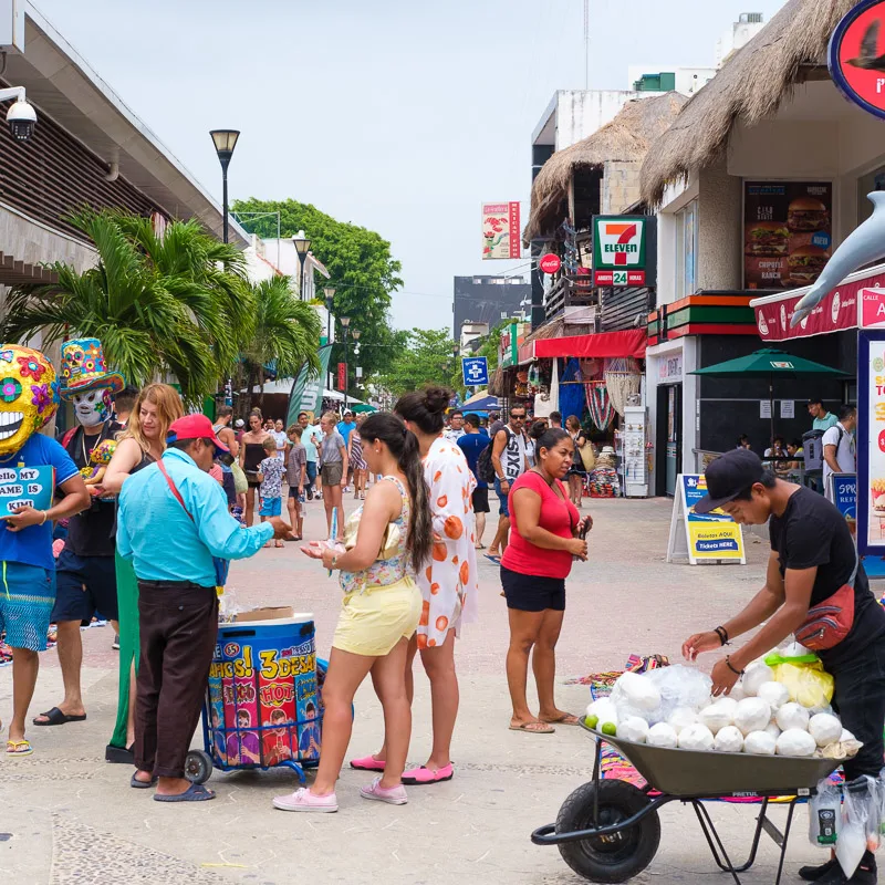
[[[743,183],[743,285],[811,285],[830,260],[830,181]]]

